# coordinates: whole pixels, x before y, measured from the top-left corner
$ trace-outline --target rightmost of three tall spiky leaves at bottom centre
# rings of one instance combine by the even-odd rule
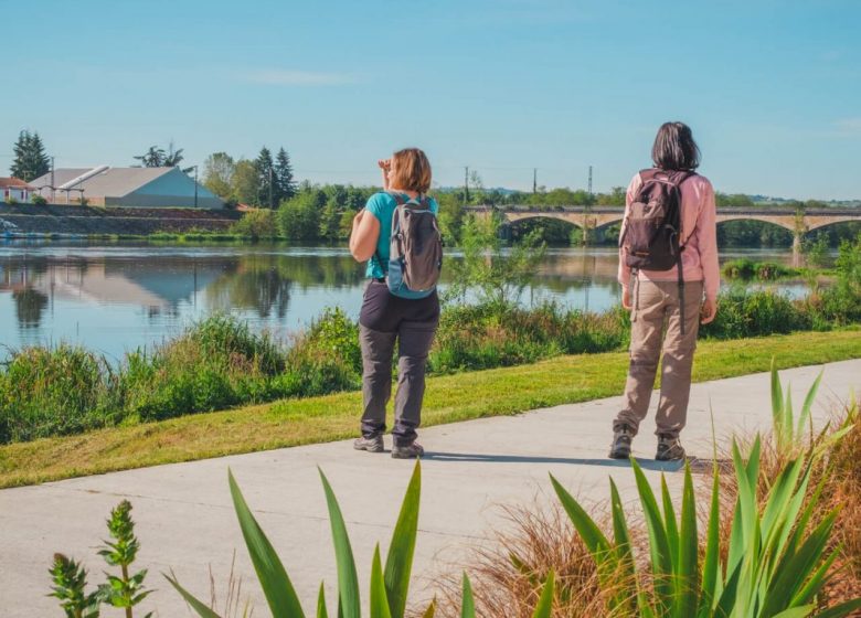
[[[406,609],[406,596],[410,589],[410,575],[413,569],[415,537],[418,532],[418,501],[422,494],[422,468],[416,460],[413,476],[406,488],[401,513],[392,533],[389,555],[385,558],[385,593],[389,608],[394,618],[403,618]]]

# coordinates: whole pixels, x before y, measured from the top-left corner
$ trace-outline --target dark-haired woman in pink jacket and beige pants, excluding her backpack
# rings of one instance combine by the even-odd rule
[[[628,266],[629,242],[620,243],[621,305],[631,312],[630,366],[623,409],[613,423],[609,457],[630,457],[631,439],[646,417],[662,350],[655,458],[668,461],[684,458],[679,434],[688,416],[697,333],[699,324],[711,322],[718,312],[720,270],[714,190],[705,177],[694,173],[700,164],[700,149],[691,129],[682,122],[662,125],[651,157],[655,168],[637,173],[628,187],[621,238],[626,237],[631,204],[641,199],[645,182],[657,177],[660,181],[678,183],[681,285],[676,266],[669,270],[640,268],[633,275]]]

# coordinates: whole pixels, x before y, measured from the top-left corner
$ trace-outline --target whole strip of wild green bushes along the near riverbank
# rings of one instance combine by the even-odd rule
[[[836,273],[833,286],[800,300],[730,289],[719,300],[716,319],[701,333],[740,339],[861,322],[861,239],[843,243]],[[599,315],[555,303],[524,308],[517,294],[500,291],[506,281],[482,276],[488,283],[478,305],[449,301],[444,309],[431,373],[628,344],[628,315],[619,308]],[[117,367],[67,344],[24,348],[0,365],[0,444],[355,390],[362,373],[358,331],[342,310],[330,309],[285,345],[235,318],[214,316],[151,350],[129,352]]]

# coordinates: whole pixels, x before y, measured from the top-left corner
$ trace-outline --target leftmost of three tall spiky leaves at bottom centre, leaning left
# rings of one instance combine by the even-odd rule
[[[254,519],[254,515],[242,496],[233,472],[227,470],[227,481],[233,497],[233,507],[236,510],[236,518],[240,520],[242,535],[245,539],[245,545],[248,547],[254,571],[257,573],[257,579],[261,582],[263,594],[269,604],[269,609],[274,616],[284,616],[286,618],[304,617],[299,598],[293,587],[287,572],[284,569],[278,554],[264,534],[263,529]]]

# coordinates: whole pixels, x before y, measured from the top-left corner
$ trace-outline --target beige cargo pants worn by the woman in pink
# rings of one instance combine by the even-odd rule
[[[661,394],[656,434],[678,437],[688,417],[691,365],[697,349],[697,333],[700,330],[703,284],[684,283],[683,334],[678,281],[637,280],[633,291],[630,367],[623,409],[613,424],[614,429],[625,424],[637,434],[640,422],[646,418],[649,409],[662,349]]]

